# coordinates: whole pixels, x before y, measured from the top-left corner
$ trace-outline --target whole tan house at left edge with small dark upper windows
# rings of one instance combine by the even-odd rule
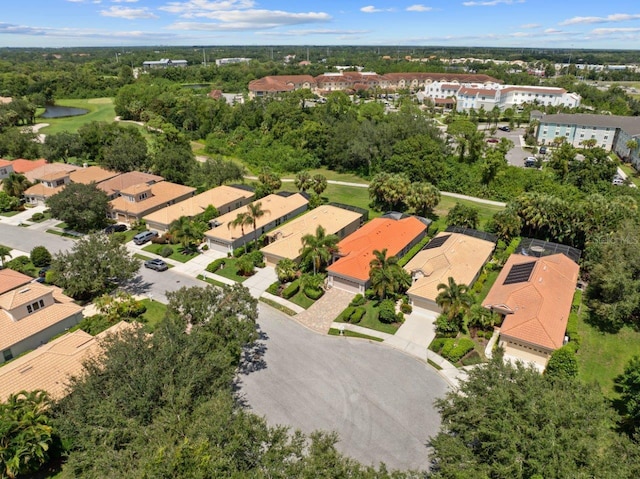
[[[39,283],[0,295],[0,363],[35,349],[82,320],[82,307],[59,288]]]

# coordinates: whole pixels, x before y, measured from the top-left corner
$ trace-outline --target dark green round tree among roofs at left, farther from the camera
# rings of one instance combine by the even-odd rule
[[[111,208],[109,197],[95,183],[70,183],[47,199],[51,216],[64,221],[70,229],[87,232],[107,225]]]

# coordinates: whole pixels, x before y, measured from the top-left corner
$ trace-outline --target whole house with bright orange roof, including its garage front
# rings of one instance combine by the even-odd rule
[[[402,256],[427,234],[429,222],[416,216],[375,218],[338,243],[337,260],[327,268],[329,287],[364,293],[369,286],[373,251]]]

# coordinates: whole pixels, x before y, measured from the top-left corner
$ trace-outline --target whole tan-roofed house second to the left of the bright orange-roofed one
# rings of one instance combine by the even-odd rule
[[[295,218],[307,209],[309,201],[300,193],[279,193],[265,196],[252,204],[260,203],[263,216],[256,220],[258,237],[280,226],[285,221]],[[248,206],[218,216],[212,224],[212,229],[205,233],[209,248],[223,253],[233,252],[234,249],[245,245],[254,238],[253,225],[231,226],[240,213],[247,213]]]

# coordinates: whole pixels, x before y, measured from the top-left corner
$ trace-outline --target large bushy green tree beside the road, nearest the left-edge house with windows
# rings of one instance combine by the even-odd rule
[[[54,256],[55,284],[76,299],[89,299],[133,279],[140,263],[116,236],[91,234],[77,240],[71,251]]]

